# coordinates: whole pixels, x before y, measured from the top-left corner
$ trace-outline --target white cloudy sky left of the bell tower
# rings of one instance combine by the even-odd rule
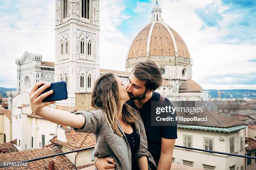
[[[28,49],[54,62],[55,2],[19,0],[0,13],[0,87],[16,87],[15,59]],[[44,4],[44,5],[42,5]]]

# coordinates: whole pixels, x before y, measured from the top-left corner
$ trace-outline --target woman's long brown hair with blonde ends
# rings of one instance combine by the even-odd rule
[[[117,124],[118,112],[120,110],[120,97],[118,93],[118,82],[112,73],[100,76],[93,87],[91,106],[104,110],[110,127],[114,133],[123,136]],[[128,104],[122,107],[122,117],[125,123],[135,123],[138,117],[136,110]]]

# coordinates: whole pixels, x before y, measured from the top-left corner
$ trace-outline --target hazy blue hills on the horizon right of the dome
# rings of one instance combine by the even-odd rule
[[[209,95],[211,95],[211,98],[218,98],[218,90],[215,89],[210,89],[207,90],[209,91]],[[221,93],[220,97],[221,98],[256,98],[256,90],[246,90],[246,89],[237,89],[237,90],[220,90]]]

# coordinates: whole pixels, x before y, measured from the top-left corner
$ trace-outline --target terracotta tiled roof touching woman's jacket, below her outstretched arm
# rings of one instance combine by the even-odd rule
[[[88,133],[76,133],[74,130],[65,132],[67,142],[62,142],[57,137],[50,140],[50,142],[65,146],[71,150],[77,150],[82,148],[89,148],[95,146],[95,138],[92,134]]]

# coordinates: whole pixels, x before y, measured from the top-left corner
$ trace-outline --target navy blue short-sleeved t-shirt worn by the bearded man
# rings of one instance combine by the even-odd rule
[[[151,101],[159,101],[159,99],[160,94],[157,92],[153,92],[152,97],[146,103],[144,103],[141,109],[138,109],[136,107],[133,100],[127,101],[127,104],[138,110],[141,115],[148,140],[148,151],[153,156],[156,165],[158,165],[161,154],[161,139],[177,139],[177,125],[151,126]],[[164,106],[161,107],[165,106],[174,107],[167,98],[165,98],[164,100]],[[176,114],[176,112],[174,114]]]

